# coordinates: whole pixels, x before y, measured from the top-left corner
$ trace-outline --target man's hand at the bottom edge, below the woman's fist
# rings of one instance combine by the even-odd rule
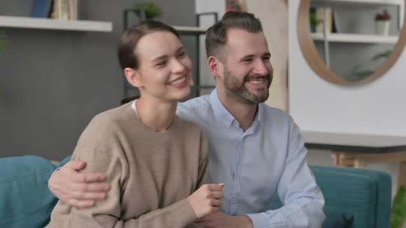
[[[222,212],[209,214],[195,220],[197,225],[205,228],[253,228],[253,221],[248,216],[229,216]]]

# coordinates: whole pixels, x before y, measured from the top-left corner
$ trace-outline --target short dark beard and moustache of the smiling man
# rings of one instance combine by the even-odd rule
[[[258,93],[251,93],[245,86],[249,80],[266,80],[267,87],[256,89]],[[226,91],[248,104],[259,104],[265,102],[269,97],[269,87],[273,76],[268,73],[266,76],[244,76],[243,80],[231,75],[230,71],[224,70],[224,86]]]

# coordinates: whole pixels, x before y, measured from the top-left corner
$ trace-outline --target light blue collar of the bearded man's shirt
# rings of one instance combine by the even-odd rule
[[[220,121],[224,125],[226,125],[227,128],[229,128],[233,124],[233,122],[237,121],[235,119],[235,117],[233,117],[233,115],[231,115],[231,113],[228,112],[226,107],[224,107],[224,105],[220,101],[220,98],[219,98],[219,96],[217,94],[217,89],[213,89],[213,91],[210,94],[209,99],[210,99],[210,104],[211,104],[211,107],[213,109],[213,113],[215,115],[215,118],[218,121]],[[254,122],[253,122],[254,129],[256,129],[257,126],[259,126],[259,121],[261,120],[261,110],[262,109],[263,109],[263,107],[261,107],[261,104],[259,104],[257,114],[255,115],[255,119],[254,119]]]

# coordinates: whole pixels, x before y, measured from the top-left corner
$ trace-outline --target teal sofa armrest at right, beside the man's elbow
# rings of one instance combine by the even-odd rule
[[[325,205],[354,216],[354,227],[389,227],[391,176],[378,170],[310,166]]]

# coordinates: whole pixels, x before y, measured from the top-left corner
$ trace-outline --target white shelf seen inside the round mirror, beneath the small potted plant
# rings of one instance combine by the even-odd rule
[[[324,41],[323,34],[313,33],[314,41]],[[397,43],[398,36],[379,36],[368,34],[345,34],[345,33],[331,33],[327,34],[328,42],[335,43]]]

